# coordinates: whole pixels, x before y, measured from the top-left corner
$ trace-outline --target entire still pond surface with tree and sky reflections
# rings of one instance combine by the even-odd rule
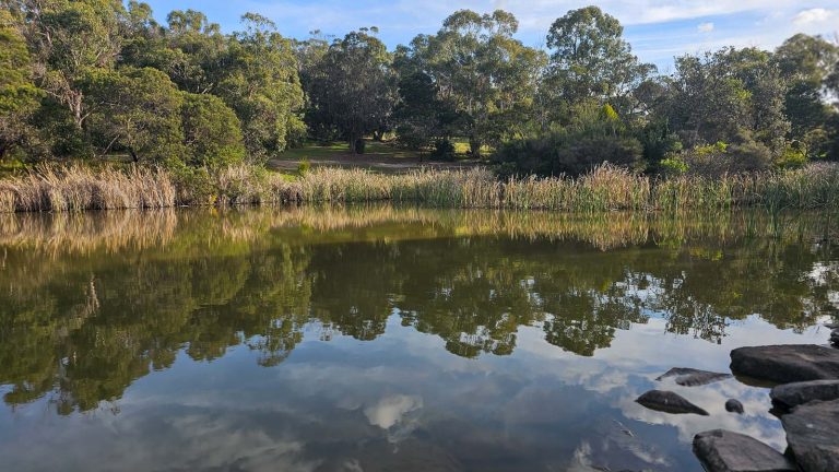
[[[783,450],[766,388],[654,379],[826,343],[832,220],[0,215],[0,470],[700,471],[717,427]]]

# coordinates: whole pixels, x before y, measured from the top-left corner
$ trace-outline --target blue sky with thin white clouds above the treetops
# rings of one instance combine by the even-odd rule
[[[273,20],[285,36],[304,38],[320,30],[343,36],[362,26],[378,26],[391,48],[420,33],[439,30],[460,9],[512,12],[517,37],[543,47],[551,23],[568,10],[595,4],[625,26],[638,57],[672,69],[673,57],[722,46],[771,49],[795,33],[839,35],[839,0],[145,0],[164,21],[174,9],[200,10],[225,32],[236,31],[243,13]]]

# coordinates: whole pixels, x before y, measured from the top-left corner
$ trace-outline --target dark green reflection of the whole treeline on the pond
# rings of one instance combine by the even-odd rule
[[[747,239],[714,229],[724,237],[680,236],[602,251],[612,243],[572,241],[568,235],[578,229],[567,220],[568,240],[562,240],[539,236],[552,231],[550,222],[497,214],[469,213],[464,220],[480,231],[464,237],[451,237],[461,231],[460,213],[442,213],[437,225],[434,213],[412,210],[411,217],[423,219],[418,226],[377,214],[381,221],[373,226],[317,234],[274,228],[258,214],[224,224],[180,216],[189,231],[167,223],[161,249],[132,246],[135,233],[155,240],[142,232],[120,233],[128,243],[105,251],[94,243],[67,253],[55,245],[47,252],[5,248],[5,402],[55,392],[60,412],[90,410],[118,399],[152,369],[172,366],[181,351],[212,361],[245,345],[258,352],[260,365],[274,366],[303,341],[310,321],[369,341],[399,312],[403,326],[439,337],[465,357],[510,354],[519,328],[537,326],[551,344],[588,356],[651,316],[663,318],[670,332],[719,342],[729,323],[752,314],[801,330],[836,310],[839,266],[830,261],[839,249],[794,238]],[[544,226],[521,231],[522,238],[486,236],[495,224],[525,221]],[[649,233],[630,223],[621,235],[635,240]],[[596,232],[592,225],[584,231]],[[236,236],[206,245],[220,227]]]

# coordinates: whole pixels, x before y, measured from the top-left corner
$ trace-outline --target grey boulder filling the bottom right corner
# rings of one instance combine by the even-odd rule
[[[839,471],[839,400],[812,401],[781,416],[787,442],[806,472]]]

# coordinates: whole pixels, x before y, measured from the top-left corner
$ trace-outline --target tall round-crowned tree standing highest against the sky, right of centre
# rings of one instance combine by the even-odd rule
[[[551,60],[546,93],[552,102],[594,97],[622,114],[631,111],[630,95],[655,67],[641,63],[623,39],[624,28],[596,7],[571,10],[547,34]]]

